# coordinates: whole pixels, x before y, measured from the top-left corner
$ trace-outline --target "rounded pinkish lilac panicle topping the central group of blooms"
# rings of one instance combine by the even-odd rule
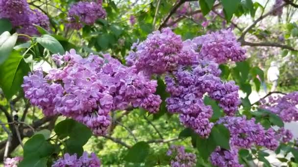
[[[148,74],[173,71],[178,66],[182,46],[181,37],[174,34],[170,28],[164,28],[161,32],[154,31],[136,48],[132,47],[132,50],[136,51],[130,51],[126,63]]]

